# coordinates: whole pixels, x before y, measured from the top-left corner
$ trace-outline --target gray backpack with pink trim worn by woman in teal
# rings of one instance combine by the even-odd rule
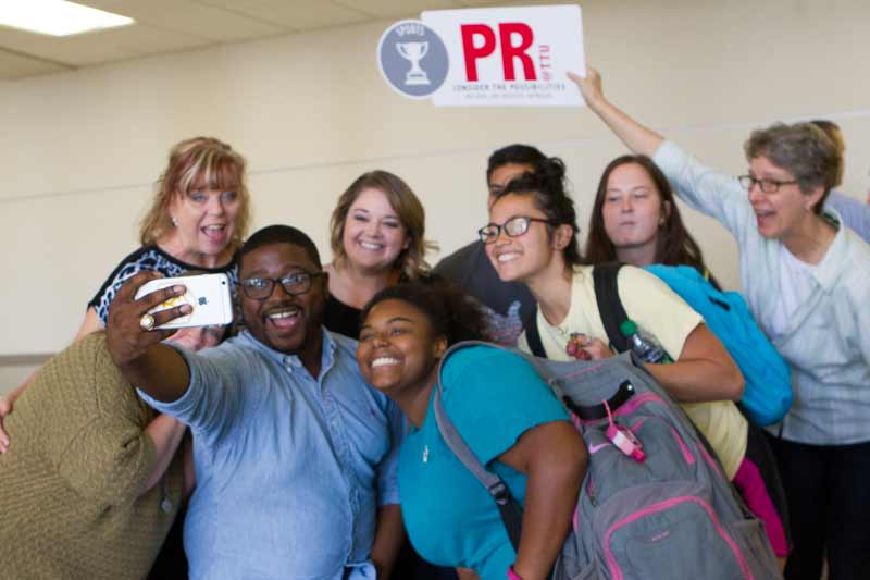
[[[505,482],[481,465],[442,402],[445,361],[475,344],[502,348],[467,342],[447,351],[438,369],[435,418],[447,445],[495,499],[517,550],[522,507]],[[683,410],[633,355],[560,362],[507,350],[531,362],[550,385],[589,451],[573,530],[552,580],[782,578],[761,522],[746,509]],[[608,428],[611,435],[630,431],[645,458],[617,447]]]

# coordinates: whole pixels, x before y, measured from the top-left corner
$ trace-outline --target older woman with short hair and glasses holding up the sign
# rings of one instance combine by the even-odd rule
[[[610,103],[594,70],[572,74],[589,108],[678,196],[717,219],[739,247],[749,308],[788,361],[792,410],[770,428],[788,499],[786,578],[870,575],[870,247],[823,210],[837,151],[811,123],[753,132],[747,175],[701,165]]]

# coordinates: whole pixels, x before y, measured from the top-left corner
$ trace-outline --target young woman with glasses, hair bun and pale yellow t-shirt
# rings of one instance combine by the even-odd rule
[[[613,356],[598,313],[593,266],[577,246],[576,214],[564,192],[561,161],[545,161],[508,184],[490,206],[489,220],[480,230],[481,239],[499,277],[524,283],[537,300],[537,329],[547,357]],[[774,551],[784,555],[787,540],[779,515],[784,509],[774,502],[778,480],[769,465],[747,456],[748,422],[734,404],[743,394],[739,369],[704,319],[658,277],[625,266],[617,283],[629,318],[673,360],[646,363],[646,369],[707,437],[725,476],[765,522]],[[520,348],[531,351],[525,333]]]

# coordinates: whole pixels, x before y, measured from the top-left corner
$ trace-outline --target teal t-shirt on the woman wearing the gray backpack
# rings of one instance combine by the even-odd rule
[[[448,359],[444,405],[481,462],[524,503],[525,476],[494,459],[529,429],[569,420],[549,386],[520,356],[474,346]],[[506,578],[517,555],[498,509],[442,439],[432,402],[423,425],[402,443],[399,495],[408,535],[424,558],[473,568],[482,580]]]

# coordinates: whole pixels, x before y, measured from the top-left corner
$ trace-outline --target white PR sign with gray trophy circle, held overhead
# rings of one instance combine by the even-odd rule
[[[580,7],[423,12],[384,33],[378,64],[400,95],[438,107],[581,106],[567,77],[586,70]]]

